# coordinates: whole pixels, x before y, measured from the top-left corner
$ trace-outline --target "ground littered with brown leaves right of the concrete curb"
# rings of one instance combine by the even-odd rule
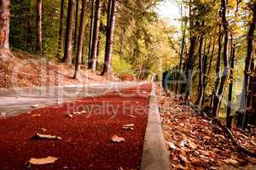
[[[256,159],[238,151],[222,127],[157,89],[166,147],[172,169],[256,169]],[[236,130],[236,139],[256,151],[256,131]],[[255,130],[255,129],[254,129]]]

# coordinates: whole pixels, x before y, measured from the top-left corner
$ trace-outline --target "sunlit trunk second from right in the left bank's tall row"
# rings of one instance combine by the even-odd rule
[[[93,59],[92,71],[96,74],[96,62],[97,62],[97,45],[99,41],[99,31],[101,22],[101,0],[96,0],[95,20],[93,28],[92,48],[91,54]]]

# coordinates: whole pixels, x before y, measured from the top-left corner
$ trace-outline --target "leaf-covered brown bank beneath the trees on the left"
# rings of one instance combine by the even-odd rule
[[[46,61],[25,52],[12,52],[15,57],[0,60],[0,88],[79,85],[84,82],[109,82],[106,77],[85,72],[84,65],[78,80],[73,79],[73,66]],[[113,80],[112,80],[113,81]]]

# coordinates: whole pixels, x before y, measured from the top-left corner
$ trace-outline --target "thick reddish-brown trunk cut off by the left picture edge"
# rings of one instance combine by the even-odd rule
[[[9,55],[9,6],[9,0],[0,0],[0,59]]]

